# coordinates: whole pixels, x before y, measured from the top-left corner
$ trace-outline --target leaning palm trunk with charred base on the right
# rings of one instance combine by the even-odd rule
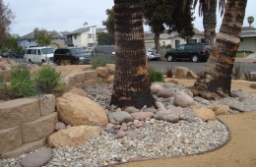
[[[215,100],[230,95],[231,73],[246,4],[247,0],[227,0],[223,24],[206,69],[192,87],[194,95]]]

